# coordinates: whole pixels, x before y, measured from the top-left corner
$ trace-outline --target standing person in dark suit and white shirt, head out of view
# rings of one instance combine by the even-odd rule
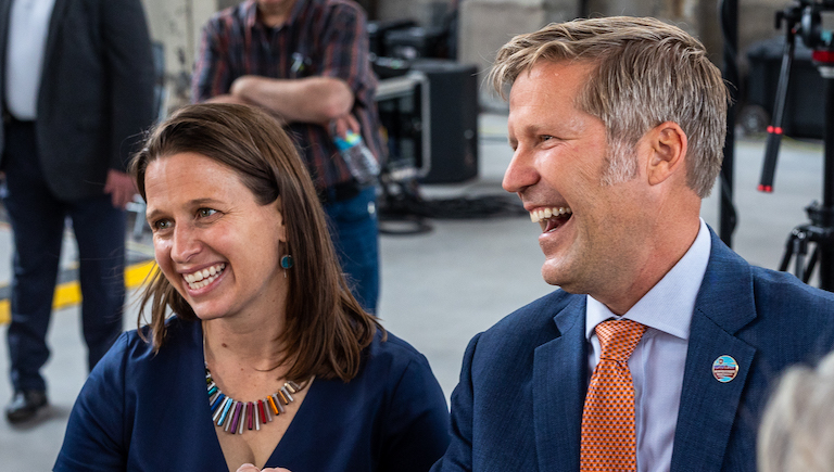
[[[78,243],[90,369],[122,331],[125,165],[155,117],[139,0],[1,0],[0,169],[14,232],[10,422],[47,405],[40,374],[65,218]]]

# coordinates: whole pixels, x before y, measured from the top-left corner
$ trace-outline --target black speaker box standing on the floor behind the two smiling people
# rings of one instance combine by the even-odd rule
[[[425,74],[429,82],[430,166],[420,182],[452,183],[477,177],[477,67],[452,60],[421,59],[413,62],[412,71]]]

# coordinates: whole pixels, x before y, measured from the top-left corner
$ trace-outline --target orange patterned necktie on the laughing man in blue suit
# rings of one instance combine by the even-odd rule
[[[643,324],[624,319],[603,321],[596,327],[602,354],[582,410],[582,472],[637,470],[629,357],[644,331]]]

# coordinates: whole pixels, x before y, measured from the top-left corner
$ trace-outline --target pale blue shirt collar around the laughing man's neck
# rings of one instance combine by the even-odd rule
[[[698,235],[686,254],[622,317],[616,316],[607,306],[589,295],[585,308],[585,339],[591,340],[601,322],[610,318],[627,318],[675,337],[688,340],[695,298],[707,271],[711,247],[709,229],[704,219],[700,219]]]

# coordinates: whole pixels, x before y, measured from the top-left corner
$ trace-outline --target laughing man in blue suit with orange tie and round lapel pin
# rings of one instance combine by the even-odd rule
[[[768,390],[832,347],[834,296],[748,265],[699,218],[728,104],[703,44],[650,18],[552,24],[504,46],[492,79],[511,85],[503,184],[540,224],[542,275],[561,290],[472,339],[432,470],[755,470]],[[631,446],[603,445],[628,468],[585,456],[611,319],[645,330],[621,360],[633,419],[603,420],[630,431]]]

